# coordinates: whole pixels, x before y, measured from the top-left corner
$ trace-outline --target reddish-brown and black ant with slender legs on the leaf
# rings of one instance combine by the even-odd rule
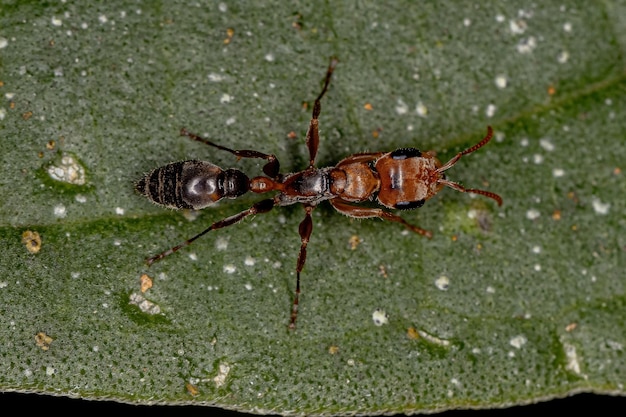
[[[367,152],[350,155],[334,167],[316,168],[315,157],[319,146],[318,118],[320,101],[330,84],[337,65],[332,59],[326,71],[322,92],[315,99],[313,115],[306,134],[309,150],[309,166],[300,172],[280,174],[280,164],[275,155],[255,150],[230,149],[183,128],[182,136],[206,145],[230,152],[237,159],[258,158],[266,161],[265,176],[252,179],[238,169],[223,170],[206,161],[181,161],[156,168],[135,184],[135,189],[153,203],[173,209],[200,210],[222,198],[237,198],[248,191],[254,193],[277,192],[272,198],[261,200],[238,214],[219,220],[199,234],[146,260],[152,265],[179,249],[190,245],[211,230],[222,229],[239,223],[248,216],[267,213],[275,206],[302,204],[304,220],[298,228],[300,252],[296,263],[296,289],[289,328],[295,329],[300,302],[300,273],[304,268],[307,246],[313,231],[311,212],[319,203],[328,200],[338,212],[358,219],[378,217],[402,224],[412,232],[432,237],[432,232],[407,223],[402,217],[376,207],[360,206],[358,203],[375,200],[387,209],[409,210],[421,207],[426,200],[437,194],[444,186],[463,193],[480,194],[502,205],[502,198],[490,191],[464,188],[446,179],[444,171],[450,169],[463,155],[485,146],[493,136],[491,127],[487,135],[476,145],[459,152],[445,164],[435,157],[435,152],[420,152],[415,148],[400,148],[393,152]]]

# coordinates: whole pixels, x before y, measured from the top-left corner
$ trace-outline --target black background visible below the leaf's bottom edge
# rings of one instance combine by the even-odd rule
[[[219,408],[201,406],[147,406],[120,404],[112,401],[86,401],[65,397],[37,394],[0,393],[2,410],[33,411],[49,414],[54,411],[76,413],[150,413],[151,416],[225,416],[251,417]],[[568,413],[594,413],[600,416],[625,415],[626,397],[611,397],[595,394],[578,394],[572,397],[495,410],[453,410],[436,414],[438,417],[516,417],[533,415],[557,415]],[[400,416],[398,416],[400,417]]]

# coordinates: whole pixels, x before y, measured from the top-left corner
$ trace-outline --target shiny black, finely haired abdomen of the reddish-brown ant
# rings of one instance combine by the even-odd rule
[[[248,176],[205,161],[167,164],[137,181],[135,189],[150,201],[173,209],[200,210],[222,198],[237,198],[250,189]]]

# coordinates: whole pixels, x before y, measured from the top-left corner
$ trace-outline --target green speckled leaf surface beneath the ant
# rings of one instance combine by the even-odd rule
[[[2,3],[1,390],[278,414],[624,395],[623,1]],[[262,198],[190,221],[134,193],[185,159],[261,175],[180,128],[301,170],[331,56],[319,166],[446,161],[491,125],[448,173],[504,205],[447,188],[401,213],[429,240],[321,204],[296,331],[295,206],[148,268]]]

